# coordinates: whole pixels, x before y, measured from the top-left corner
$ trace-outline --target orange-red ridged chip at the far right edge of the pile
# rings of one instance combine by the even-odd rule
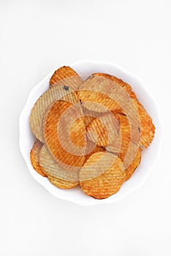
[[[136,106],[137,112],[140,116],[140,145],[148,148],[155,134],[155,126],[151,116],[148,115],[147,111],[138,100],[134,99],[134,105]]]

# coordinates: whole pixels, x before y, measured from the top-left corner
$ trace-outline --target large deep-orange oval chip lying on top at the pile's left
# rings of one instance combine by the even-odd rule
[[[77,143],[75,132],[69,132],[69,130],[72,131],[70,124],[78,117],[79,109],[64,101],[54,102],[45,114],[43,122],[45,143],[60,167],[66,165],[72,169],[72,167],[83,165],[85,157],[84,154],[80,154],[81,149],[86,145],[86,128],[83,118],[79,118],[79,122],[74,123],[77,127],[73,130],[81,131],[76,138]],[[77,147],[73,145],[73,141]]]

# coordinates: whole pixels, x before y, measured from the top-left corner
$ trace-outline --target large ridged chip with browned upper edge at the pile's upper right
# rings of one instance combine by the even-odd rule
[[[83,82],[78,91],[84,108],[99,113],[107,110],[123,113],[128,110],[130,99],[136,99],[129,84],[106,74],[93,74]]]

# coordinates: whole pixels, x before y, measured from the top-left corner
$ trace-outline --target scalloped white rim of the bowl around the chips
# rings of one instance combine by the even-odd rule
[[[136,191],[137,189],[140,189],[140,187],[142,187],[143,184],[145,184],[145,181],[146,179],[148,178],[148,176],[151,174],[152,170],[154,169],[154,167],[156,166],[157,162],[158,162],[158,159],[159,159],[159,154],[161,152],[161,144],[162,144],[162,138],[163,138],[163,134],[162,134],[162,123],[161,123],[161,115],[159,113],[159,108],[158,108],[158,105],[156,103],[156,99],[154,99],[154,97],[151,95],[151,93],[149,92],[149,90],[147,89],[147,87],[145,86],[145,83],[142,83],[142,80],[140,80],[140,78],[138,78],[136,75],[132,74],[132,72],[128,72],[127,70],[123,69],[121,66],[119,66],[118,64],[113,64],[112,62],[110,61],[93,61],[93,60],[88,60],[88,59],[83,59],[83,60],[80,60],[80,61],[75,61],[75,62],[72,62],[71,64],[69,64],[69,67],[73,67],[75,69],[75,67],[77,67],[78,65],[110,65],[112,66],[114,69],[118,69],[120,70],[123,74],[125,74],[128,78],[133,78],[133,80],[137,81],[137,83],[139,83],[141,86],[142,86],[142,89],[143,91],[145,91],[145,94],[148,96],[148,99],[151,99],[151,102],[153,104],[153,107],[155,108],[155,111],[156,111],[156,117],[157,117],[157,121],[158,121],[158,124],[157,124],[157,128],[158,128],[158,132],[159,132],[159,138],[158,138],[158,151],[157,151],[157,154],[155,156],[156,158],[156,161],[153,162],[153,164],[151,165],[151,171],[148,172],[148,174],[146,174],[142,180],[134,185],[134,187],[132,187],[131,189],[129,189],[129,191],[127,191],[125,194],[122,194],[120,196],[116,196],[116,197],[113,197],[112,200],[107,200],[108,198],[111,198],[111,197],[108,197],[107,199],[103,199],[103,200],[96,200],[93,198],[92,200],[92,197],[90,201],[80,201],[78,202],[77,200],[71,200],[69,198],[67,198],[66,196],[62,195],[62,193],[60,195],[56,195],[56,189],[54,189],[54,186],[53,184],[48,184],[48,186],[45,184],[45,182],[43,181],[42,176],[40,176],[32,167],[31,165],[31,162],[29,160],[28,162],[28,156],[27,156],[27,153],[24,149],[24,145],[23,145],[23,139],[25,138],[25,132],[24,131],[24,125],[25,122],[26,122],[26,118],[28,118],[28,116],[26,116],[26,112],[28,110],[28,105],[29,105],[29,101],[32,97],[32,95],[34,94],[34,90],[36,89],[36,87],[38,87],[41,83],[43,83],[45,80],[47,80],[47,78],[50,78],[51,75],[53,75],[53,72],[55,72],[56,69],[53,69],[52,71],[50,71],[46,76],[45,78],[43,78],[36,86],[33,87],[33,89],[31,89],[30,93],[28,94],[28,97],[26,99],[26,103],[23,107],[23,110],[21,111],[20,113],[20,118],[19,118],[19,148],[20,148],[20,153],[22,154],[23,156],[23,159],[25,160],[26,162],[26,165],[28,167],[28,170],[29,172],[31,173],[31,176],[39,183],[42,185],[42,187],[45,187],[45,189],[47,189],[48,192],[50,192],[51,195],[57,197],[58,199],[61,199],[61,200],[66,200],[66,201],[69,201],[69,202],[72,202],[72,203],[76,203],[78,205],[82,205],[82,206],[92,206],[92,205],[96,205],[96,204],[102,204],[102,203],[115,203],[115,202],[118,202],[118,200],[121,200],[123,199],[124,197],[126,197],[127,195],[129,195],[130,193]],[[60,66],[61,67],[61,66]],[[37,99],[35,99],[36,101]],[[31,110],[31,109],[30,109]],[[28,120],[27,120],[28,121]],[[31,171],[31,169],[34,170],[34,173]],[[62,189],[61,189],[62,190]],[[115,194],[117,195],[117,194]]]

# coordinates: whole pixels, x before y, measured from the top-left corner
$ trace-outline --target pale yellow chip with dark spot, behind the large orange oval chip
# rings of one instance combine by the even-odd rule
[[[34,107],[31,110],[30,115],[30,126],[31,132],[42,142],[44,143],[44,138],[42,135],[42,121],[45,116],[47,108],[57,100],[65,100],[66,102],[71,102],[76,104],[79,102],[77,94],[71,88],[66,91],[64,86],[57,86],[52,89],[49,89],[44,94],[42,94],[37,102],[34,104]]]

